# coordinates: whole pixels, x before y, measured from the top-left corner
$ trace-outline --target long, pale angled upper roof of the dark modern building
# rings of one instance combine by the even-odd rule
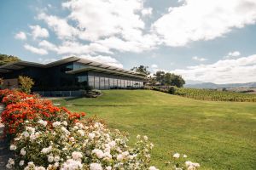
[[[102,64],[100,62],[96,62],[96,61],[92,61],[90,59],[82,59],[79,57],[68,57],[66,59],[60,59],[48,64],[39,64],[39,63],[34,63],[34,62],[29,62],[29,61],[15,61],[13,63],[9,63],[6,65],[1,65],[0,66],[0,73],[9,73],[11,71],[16,71],[16,70],[20,70],[25,68],[26,66],[32,66],[32,67],[38,67],[38,68],[49,68],[49,67],[53,67],[56,65],[63,65],[66,63],[70,63],[70,62],[78,62],[78,63],[82,63],[85,65],[89,65],[90,66],[90,70],[95,70],[95,71],[105,71],[105,72],[112,72],[115,74],[119,75],[126,75],[126,76],[131,76],[131,77],[138,77],[138,78],[145,78],[146,75],[143,73],[138,73],[135,71],[127,71],[124,70],[122,68],[119,67],[115,67],[112,65],[106,65],[106,64]],[[93,69],[92,69],[93,68]],[[83,69],[78,69],[78,70],[73,70],[72,71],[67,71],[67,73],[69,74],[74,74],[76,72],[80,72],[83,71]],[[85,70],[84,70],[85,71]]]

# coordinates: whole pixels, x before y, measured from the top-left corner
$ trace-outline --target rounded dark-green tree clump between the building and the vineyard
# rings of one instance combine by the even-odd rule
[[[155,81],[160,82],[160,85],[176,86],[177,88],[182,88],[185,84],[183,77],[165,71],[156,71],[154,77]]]

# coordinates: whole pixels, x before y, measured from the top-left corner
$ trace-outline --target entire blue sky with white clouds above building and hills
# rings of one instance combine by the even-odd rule
[[[256,0],[3,0],[0,54],[256,82]]]

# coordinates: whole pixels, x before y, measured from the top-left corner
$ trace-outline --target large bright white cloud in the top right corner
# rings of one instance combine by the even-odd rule
[[[223,37],[256,21],[255,0],[184,0],[169,8],[152,28],[168,46]]]

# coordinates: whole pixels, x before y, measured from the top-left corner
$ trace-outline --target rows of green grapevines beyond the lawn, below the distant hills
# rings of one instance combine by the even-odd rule
[[[175,94],[193,99],[213,101],[256,102],[255,94],[241,94],[236,92],[217,91],[214,89],[177,88]]]

